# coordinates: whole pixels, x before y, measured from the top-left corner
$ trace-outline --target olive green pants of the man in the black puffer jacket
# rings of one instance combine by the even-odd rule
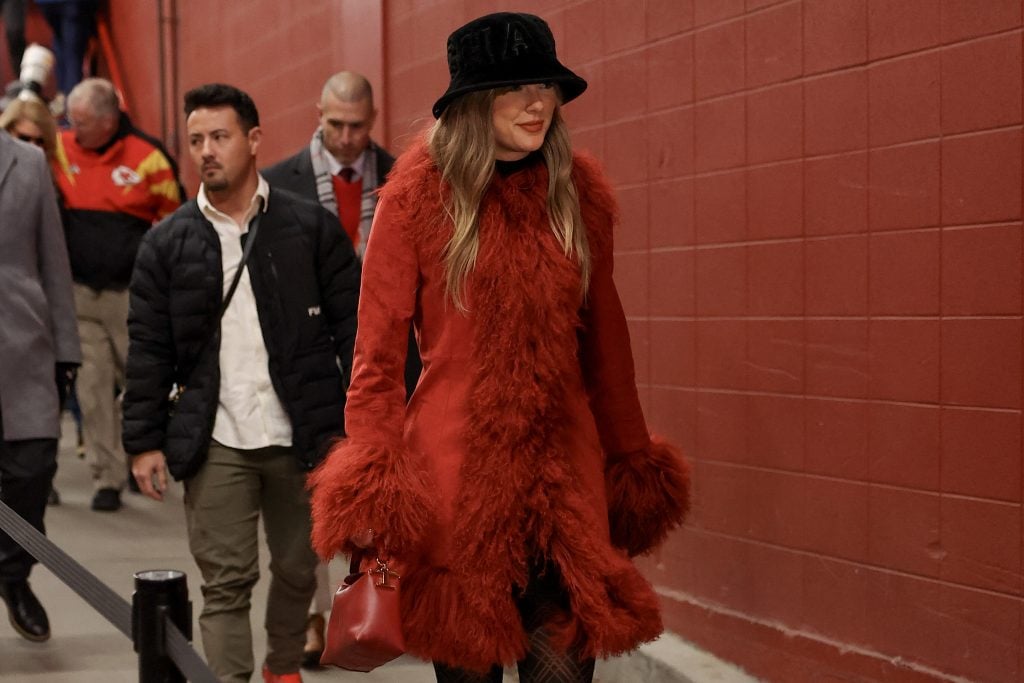
[[[212,443],[206,463],[185,481],[185,520],[203,573],[203,650],[225,682],[247,682],[254,669],[249,607],[259,579],[261,514],[270,551],[266,666],[275,674],[296,672],[316,587],[305,473],[289,447]]]

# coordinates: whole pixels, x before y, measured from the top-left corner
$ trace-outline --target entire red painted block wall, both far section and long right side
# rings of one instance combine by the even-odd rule
[[[623,205],[641,395],[695,469],[643,565],[669,628],[764,678],[1024,676],[1021,5],[518,3],[591,82],[566,117]],[[178,0],[180,85],[248,89],[269,163],[362,59],[402,148],[447,33],[505,6]],[[147,13],[115,29],[153,126]]]

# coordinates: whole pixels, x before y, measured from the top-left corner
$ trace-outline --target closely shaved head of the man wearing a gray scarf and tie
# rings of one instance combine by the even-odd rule
[[[316,111],[324,146],[343,166],[354,164],[370,146],[377,119],[370,81],[348,71],[335,74],[324,84]]]

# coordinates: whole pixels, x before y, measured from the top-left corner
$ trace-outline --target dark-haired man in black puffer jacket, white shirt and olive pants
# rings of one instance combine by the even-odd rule
[[[224,681],[254,669],[248,605],[263,516],[263,677],[276,681],[302,657],[316,565],[305,473],[344,432],[359,267],[335,216],[257,173],[261,131],[247,94],[201,86],[185,94],[185,115],[203,184],[139,247],[124,444],[143,494],[162,500],[168,471],[184,480],[203,645]]]

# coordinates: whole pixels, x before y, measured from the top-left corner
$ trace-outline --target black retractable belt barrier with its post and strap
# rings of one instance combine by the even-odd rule
[[[0,530],[3,530],[10,538],[14,539],[15,543],[25,548],[33,557],[43,563],[47,569],[53,572],[53,574],[62,581],[69,588],[78,593],[83,600],[89,603],[93,609],[103,615],[108,622],[114,625],[114,627],[123,633],[128,638],[132,638],[132,607],[128,604],[128,601],[122,598],[120,595],[115,593],[111,587],[109,587],[103,582],[96,579],[95,575],[89,572],[88,569],[79,564],[75,558],[60,550],[57,546],[53,544],[52,541],[47,539],[45,536],[40,533],[32,524],[22,519],[20,515],[11,510],[7,505],[0,501]],[[136,574],[136,600],[139,599],[139,584],[138,577],[141,574],[147,574],[153,572],[139,572]],[[162,572],[156,572],[162,573]],[[168,678],[168,679],[156,679],[156,678],[140,678],[142,683],[153,683],[156,681],[182,681],[185,678],[193,683],[219,683],[217,676],[210,671],[210,668],[206,666],[206,663],[196,653],[196,650],[191,648],[188,644],[188,638],[182,635],[181,631],[178,629],[176,624],[182,624],[179,620],[182,618],[181,615],[181,600],[184,600],[184,609],[190,610],[187,606],[187,588],[184,588],[184,573],[180,571],[165,571],[165,579],[172,579],[172,581],[164,587],[163,590],[167,592],[163,595],[166,596],[166,604],[164,602],[165,598],[156,597],[150,603],[151,605],[156,605],[156,609],[151,609],[146,607],[144,610],[140,607],[136,607],[139,612],[145,611],[146,613],[153,613],[159,618],[160,626],[153,627],[152,625],[141,626],[135,629],[137,632],[159,632],[163,631],[165,635],[165,649],[162,651],[166,652],[167,655],[171,657],[177,669],[178,678]],[[166,574],[180,574],[180,585],[177,583],[176,577],[167,577]],[[150,577],[148,579],[157,579],[159,577]],[[146,578],[143,578],[146,581]],[[185,593],[182,594],[181,590],[184,588]],[[146,592],[146,598],[150,597],[147,593],[147,588],[143,589]],[[174,605],[172,606],[172,601]],[[141,614],[140,614],[141,615]],[[190,613],[185,617],[189,628],[186,630],[188,636],[191,636],[191,615]],[[152,631],[151,631],[152,630]],[[132,638],[135,641],[134,638]],[[139,647],[136,642],[136,649],[139,651],[139,673],[140,676],[144,675],[142,672],[143,661],[142,661],[142,648]],[[173,667],[169,667],[173,670]],[[181,675],[185,678],[181,678]]]

